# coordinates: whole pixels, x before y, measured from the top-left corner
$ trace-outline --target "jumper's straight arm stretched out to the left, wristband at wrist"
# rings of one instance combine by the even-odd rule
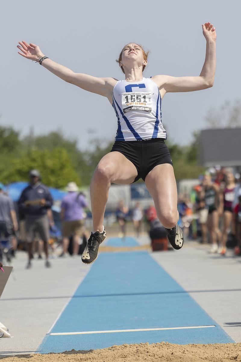
[[[37,60],[39,56],[45,56],[36,44],[28,44],[25,41],[19,42],[19,44],[21,47],[18,45],[17,48],[20,49],[21,52],[18,52],[18,54],[24,56],[24,58]],[[49,58],[43,60],[42,66],[68,83],[75,84],[89,92],[97,93],[105,97],[111,94],[113,86],[116,83],[116,80],[113,78],[98,78],[87,74],[75,73],[71,69],[55,63]]]

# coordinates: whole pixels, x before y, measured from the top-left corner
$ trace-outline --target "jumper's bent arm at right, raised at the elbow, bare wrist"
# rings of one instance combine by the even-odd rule
[[[162,89],[163,94],[166,92],[191,92],[213,86],[216,69],[216,31],[210,22],[202,25],[202,28],[207,46],[205,62],[200,75],[191,77],[157,75],[152,77],[159,89]]]

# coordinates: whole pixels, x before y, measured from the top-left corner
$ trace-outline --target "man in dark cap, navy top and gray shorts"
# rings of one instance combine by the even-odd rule
[[[27,269],[31,268],[32,249],[35,233],[38,232],[44,243],[47,268],[50,267],[48,259],[49,219],[47,209],[53,205],[53,199],[47,187],[41,183],[38,170],[29,172],[30,184],[27,186],[18,200],[18,206],[25,215],[26,241],[28,245],[29,260]]]

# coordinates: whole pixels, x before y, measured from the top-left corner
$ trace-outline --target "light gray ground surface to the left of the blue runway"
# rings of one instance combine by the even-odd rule
[[[78,258],[33,260],[26,270],[27,255],[13,259],[13,275],[0,299],[0,321],[14,338],[0,338],[0,357],[36,352],[62,308],[90,270]],[[13,279],[16,278],[14,281]]]

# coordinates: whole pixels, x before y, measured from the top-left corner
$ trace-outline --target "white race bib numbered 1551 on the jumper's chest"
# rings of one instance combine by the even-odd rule
[[[143,92],[129,92],[121,93],[121,103],[123,112],[129,112],[132,110],[137,111],[151,111],[151,96],[152,93]]]

